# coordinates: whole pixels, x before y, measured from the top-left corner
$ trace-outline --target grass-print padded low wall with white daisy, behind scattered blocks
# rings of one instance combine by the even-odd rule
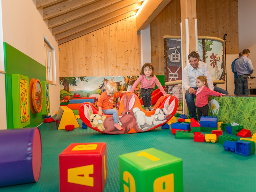
[[[220,122],[236,122],[256,133],[256,97],[209,97],[209,115],[217,116]]]

